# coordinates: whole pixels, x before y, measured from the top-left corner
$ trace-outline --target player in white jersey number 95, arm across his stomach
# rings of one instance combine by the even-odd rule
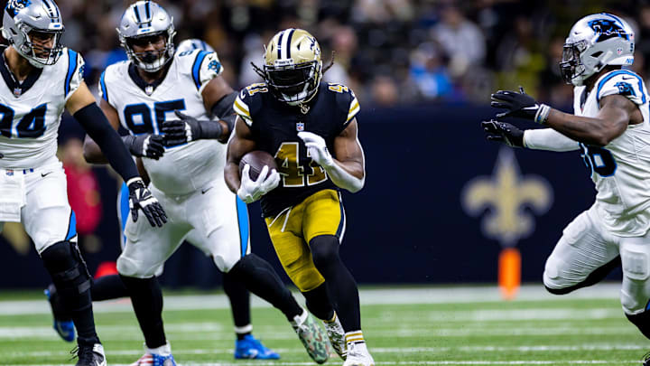
[[[160,5],[130,5],[117,28],[129,60],[107,67],[100,78],[100,106],[124,143],[142,157],[155,197],[168,205],[170,223],[149,230],[127,221],[126,245],[117,270],[144,333],[144,356],[135,364],[173,365],[163,330],[163,296],[155,277],[164,261],[193,231],[192,244],[227,276],[280,309],[315,361],[327,361],[329,343],[310,314],[264,259],[250,253],[245,205],[223,180],[226,146],[235,122],[237,93],[223,78],[214,52],[175,52],[172,17]],[[213,118],[217,117],[217,118]],[[86,157],[103,162],[91,141]]]

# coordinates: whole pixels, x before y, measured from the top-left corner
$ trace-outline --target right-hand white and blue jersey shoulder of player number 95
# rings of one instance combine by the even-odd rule
[[[182,74],[191,78],[199,92],[203,91],[210,80],[223,72],[217,52],[203,50],[176,52],[174,62],[177,63],[178,70]]]

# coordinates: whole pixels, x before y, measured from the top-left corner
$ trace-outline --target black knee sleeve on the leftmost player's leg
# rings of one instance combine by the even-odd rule
[[[66,307],[72,311],[88,307],[90,303],[80,298],[89,297],[91,277],[77,244],[70,241],[52,244],[42,251],[41,258]]]

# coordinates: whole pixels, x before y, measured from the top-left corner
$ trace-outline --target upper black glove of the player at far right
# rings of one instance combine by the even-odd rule
[[[517,117],[532,119],[534,122],[543,124],[551,111],[545,104],[537,103],[533,97],[519,87],[519,92],[511,90],[499,90],[492,94],[490,106],[494,108],[507,109],[506,112],[497,113],[497,118]]]

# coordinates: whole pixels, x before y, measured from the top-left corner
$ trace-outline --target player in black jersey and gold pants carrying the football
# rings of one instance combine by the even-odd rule
[[[320,46],[302,29],[276,33],[263,69],[254,68],[265,82],[242,89],[235,100],[228,187],[246,203],[261,199],[275,252],[307,307],[325,321],[344,365],[373,365],[357,284],[339,258],[346,227],[339,190],[357,192],[365,181],[357,98],[344,85],[320,83]],[[280,172],[252,181],[246,164],[240,174],[239,161],[253,150],[273,155]],[[265,166],[259,176],[267,172]]]

